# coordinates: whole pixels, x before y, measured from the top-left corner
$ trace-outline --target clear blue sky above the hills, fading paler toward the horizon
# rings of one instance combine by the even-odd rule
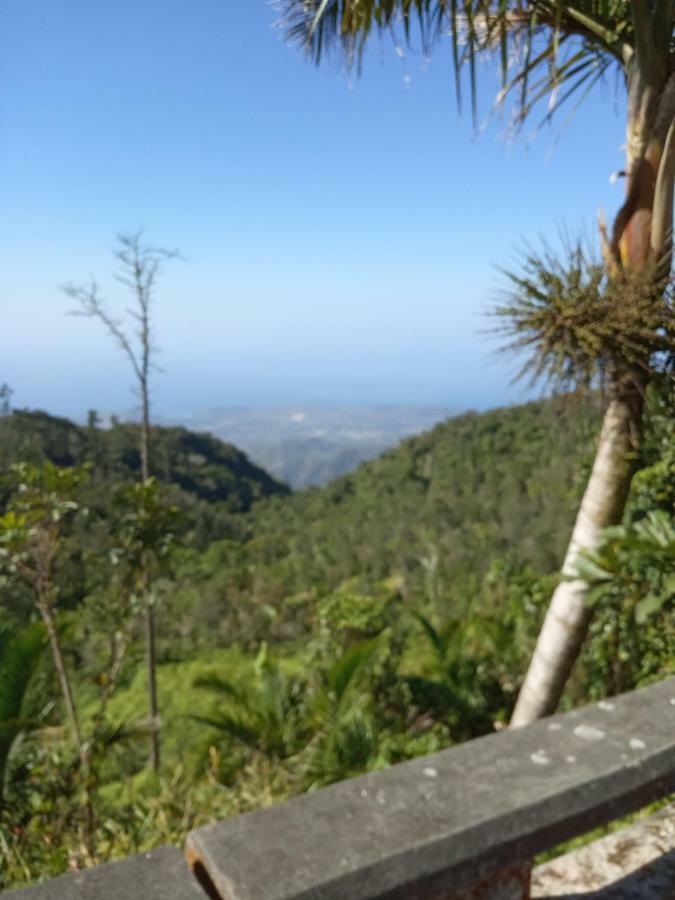
[[[264,0],[0,2],[0,382],[18,406],[128,409],[98,324],[65,315],[120,230],[180,247],[156,408],[518,402],[481,334],[519,239],[620,204],[623,95],[530,140],[458,117],[448,47],[363,75],[287,47]],[[480,74],[482,112],[497,87]],[[534,123],[532,123],[534,125]]]

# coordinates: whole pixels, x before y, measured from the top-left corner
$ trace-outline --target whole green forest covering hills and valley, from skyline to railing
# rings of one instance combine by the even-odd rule
[[[4,885],[180,844],[507,724],[605,405],[577,393],[466,413],[298,493],[177,428],[152,429],[141,483],[137,426],[8,411]],[[675,671],[671,411],[652,386],[623,524],[586,561],[594,617],[563,708]]]

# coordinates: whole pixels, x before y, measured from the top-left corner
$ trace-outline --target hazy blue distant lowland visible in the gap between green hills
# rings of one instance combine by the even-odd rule
[[[224,407],[167,422],[231,441],[297,489],[327,484],[450,413],[414,405]]]

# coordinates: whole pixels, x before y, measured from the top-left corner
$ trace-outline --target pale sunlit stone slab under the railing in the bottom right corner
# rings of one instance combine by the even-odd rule
[[[538,866],[532,897],[675,900],[675,804]]]

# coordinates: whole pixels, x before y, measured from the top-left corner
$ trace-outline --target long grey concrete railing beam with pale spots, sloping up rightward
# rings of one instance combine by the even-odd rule
[[[675,790],[675,679],[198,829],[226,900],[446,900]]]

